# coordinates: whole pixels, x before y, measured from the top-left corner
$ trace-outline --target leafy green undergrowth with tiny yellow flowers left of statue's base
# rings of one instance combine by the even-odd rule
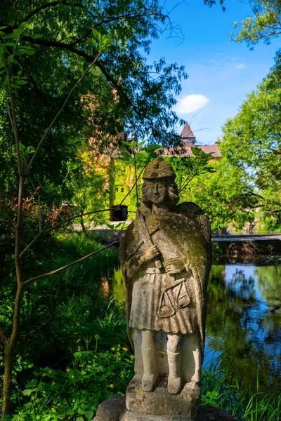
[[[5,421],[92,420],[101,401],[125,393],[133,377],[129,349],[115,345],[98,352],[77,345],[65,370],[34,367],[25,389],[13,396],[20,406],[13,415],[4,417]]]

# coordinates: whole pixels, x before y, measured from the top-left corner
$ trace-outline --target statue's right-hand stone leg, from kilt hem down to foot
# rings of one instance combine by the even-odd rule
[[[181,335],[168,333],[167,356],[169,363],[168,392],[181,392]]]

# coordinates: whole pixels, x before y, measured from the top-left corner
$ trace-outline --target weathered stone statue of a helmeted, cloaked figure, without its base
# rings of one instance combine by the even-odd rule
[[[175,177],[162,157],[148,164],[136,221],[122,237],[128,332],[143,392],[158,384],[176,395],[189,384],[200,400],[211,231],[199,206],[177,205]]]

